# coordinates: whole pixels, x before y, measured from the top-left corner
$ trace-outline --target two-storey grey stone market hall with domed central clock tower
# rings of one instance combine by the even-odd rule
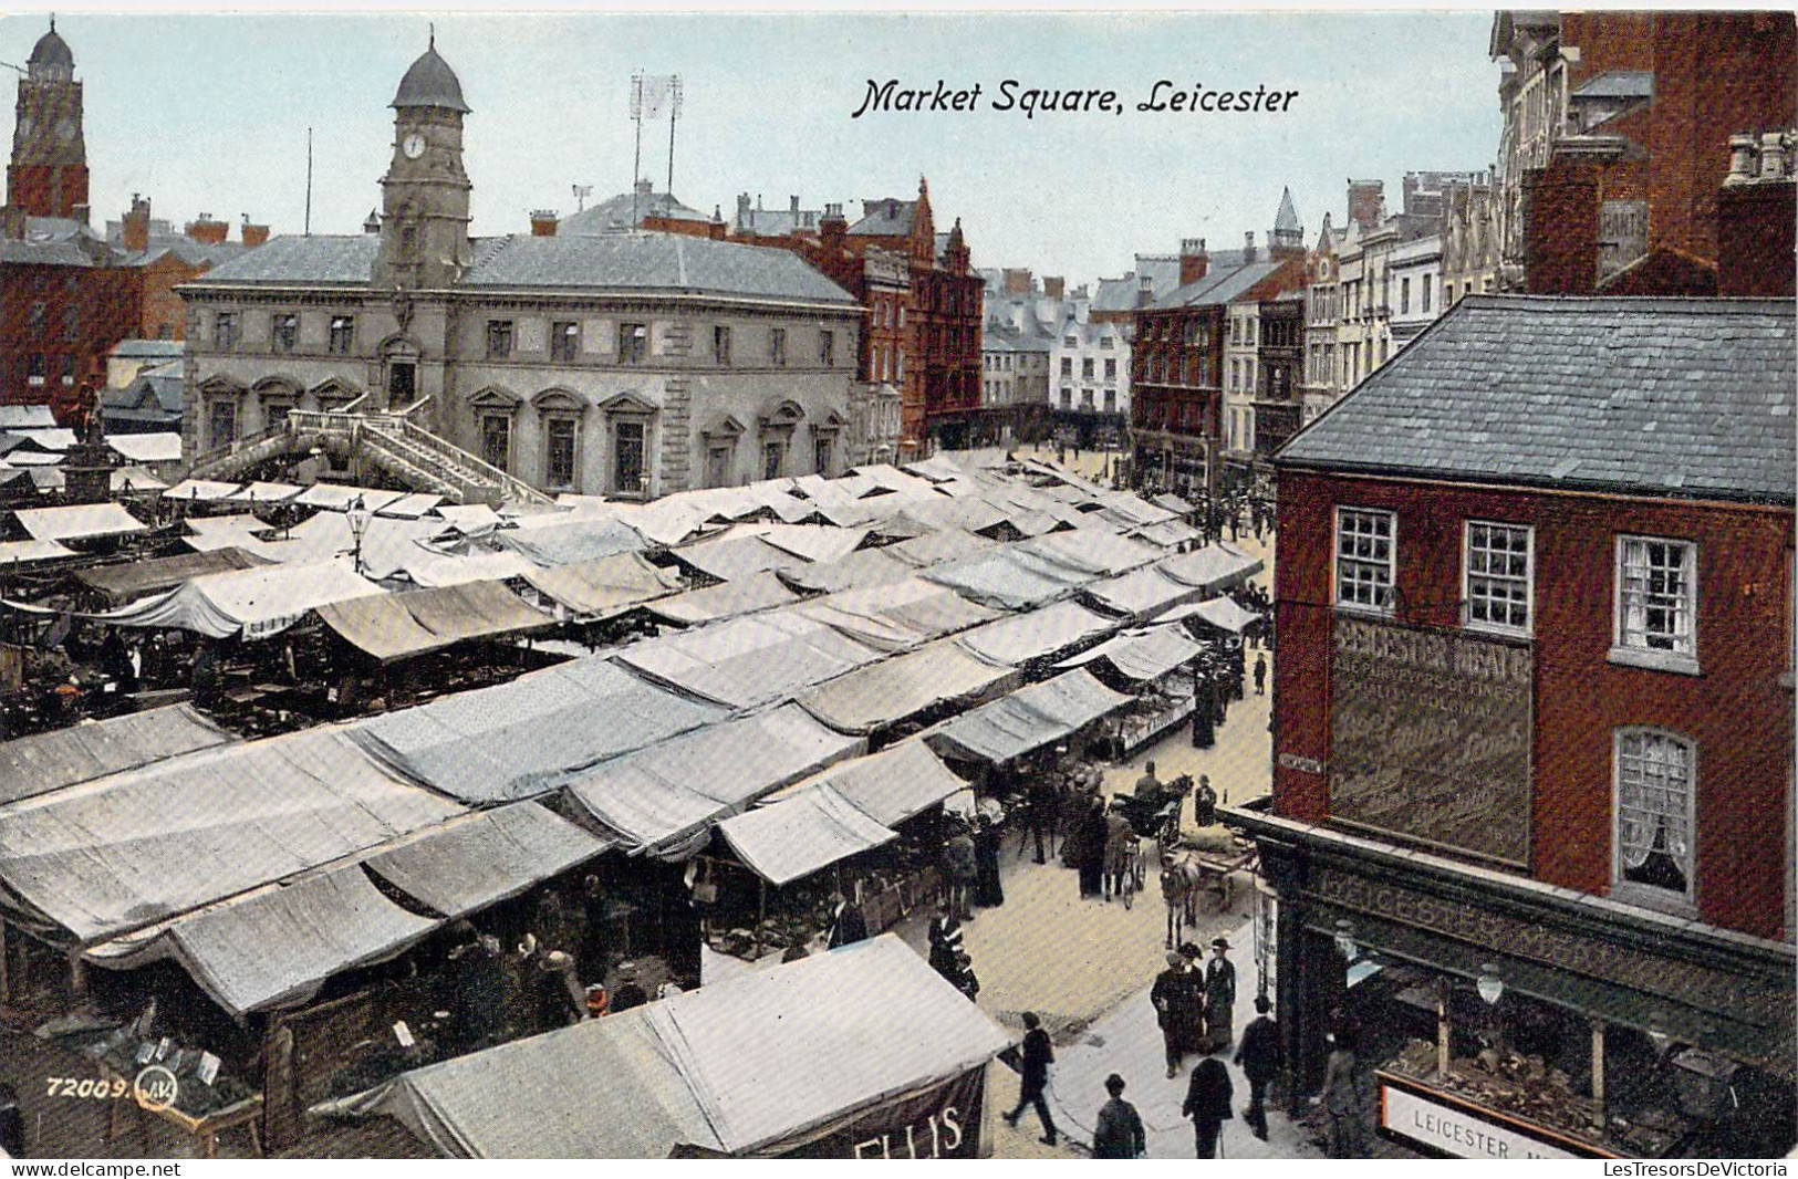
[[[471,237],[469,106],[435,45],[392,106],[378,232],[275,237],[183,288],[191,457],[291,410],[360,408],[547,492],[845,469],[849,293],[789,252],[705,237]]]

